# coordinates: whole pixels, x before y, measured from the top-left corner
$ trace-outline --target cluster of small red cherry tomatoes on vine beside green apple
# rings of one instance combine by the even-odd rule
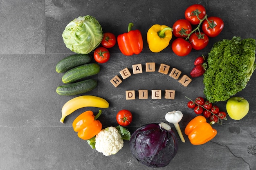
[[[204,115],[205,118],[209,118],[210,121],[222,124],[222,120],[227,120],[227,113],[220,111],[220,108],[213,105],[203,97],[197,97],[195,101],[189,101],[187,103],[189,108],[193,108],[195,114]]]

